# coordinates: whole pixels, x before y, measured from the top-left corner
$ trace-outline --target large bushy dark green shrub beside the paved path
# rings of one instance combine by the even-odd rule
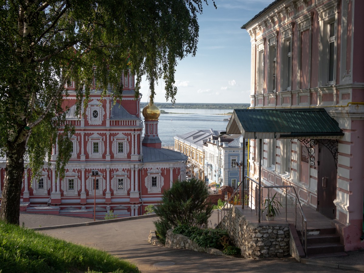
[[[167,227],[189,225],[207,226],[213,205],[207,201],[209,193],[205,182],[199,179],[176,181],[165,191],[162,203],[155,206],[159,221],[154,222],[160,237],[165,238]]]

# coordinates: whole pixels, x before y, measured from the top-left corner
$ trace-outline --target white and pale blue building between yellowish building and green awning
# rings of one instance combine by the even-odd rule
[[[205,175],[209,183],[230,186],[235,189],[244,178],[245,170],[241,162],[248,159],[244,153],[244,142],[241,135],[211,136],[203,145],[205,151]]]

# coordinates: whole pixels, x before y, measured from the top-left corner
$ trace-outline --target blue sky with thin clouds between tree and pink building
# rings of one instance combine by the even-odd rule
[[[251,43],[241,26],[272,1],[216,0],[217,9],[212,3],[203,5],[196,56],[187,56],[176,67],[177,103],[250,102]],[[154,101],[166,102],[161,81],[155,91]],[[145,78],[141,93],[146,102],[150,91]]]

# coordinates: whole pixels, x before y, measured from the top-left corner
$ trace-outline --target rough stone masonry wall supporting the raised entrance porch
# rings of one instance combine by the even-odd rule
[[[244,258],[284,257],[289,255],[288,224],[252,223],[233,207],[218,225],[229,232]]]

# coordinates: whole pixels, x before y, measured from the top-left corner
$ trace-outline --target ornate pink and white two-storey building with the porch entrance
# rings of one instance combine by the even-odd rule
[[[363,11],[362,0],[276,0],[244,24],[250,112],[271,131],[249,135],[238,114],[227,130],[250,139],[250,177],[261,149],[262,184],[294,186],[302,203],[332,219],[345,250],[364,248]],[[329,117],[320,124],[322,111]],[[245,131],[231,130],[237,123]]]

